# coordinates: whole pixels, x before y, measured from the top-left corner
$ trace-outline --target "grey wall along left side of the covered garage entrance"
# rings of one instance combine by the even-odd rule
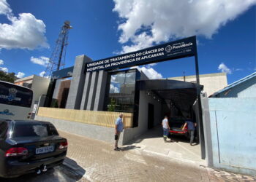
[[[148,96],[146,91],[140,91],[138,127],[124,130],[124,143],[134,140],[148,130],[148,103],[154,105],[154,125],[156,126],[162,121],[162,104]]]

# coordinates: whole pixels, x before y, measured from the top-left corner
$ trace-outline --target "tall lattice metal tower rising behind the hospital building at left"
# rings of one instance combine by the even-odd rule
[[[50,55],[49,63],[45,69],[43,77],[50,77],[53,71],[59,70],[61,66],[64,68],[67,50],[67,38],[69,29],[71,28],[72,27],[70,26],[70,22],[65,21],[64,25],[61,27],[59,38],[56,41],[56,45],[52,54]]]

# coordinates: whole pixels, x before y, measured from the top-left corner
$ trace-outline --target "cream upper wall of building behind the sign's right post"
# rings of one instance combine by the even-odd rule
[[[206,91],[207,95],[211,95],[214,92],[222,90],[227,86],[227,74],[218,73],[218,74],[201,74],[199,75],[200,84],[203,85],[203,90]],[[174,79],[178,81],[184,81],[183,76],[172,77],[168,79]],[[186,82],[195,82],[195,75],[185,76]]]

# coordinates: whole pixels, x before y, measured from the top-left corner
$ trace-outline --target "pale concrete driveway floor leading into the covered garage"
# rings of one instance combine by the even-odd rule
[[[157,126],[140,135],[130,145],[137,149],[158,154],[171,159],[178,159],[182,162],[206,165],[205,160],[200,157],[200,145],[190,146],[189,141],[182,137],[172,137],[174,142],[165,143],[162,138],[162,127]],[[167,141],[170,141],[167,138]]]

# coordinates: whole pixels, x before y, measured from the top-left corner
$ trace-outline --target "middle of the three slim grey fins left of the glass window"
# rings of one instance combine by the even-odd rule
[[[86,110],[93,110],[94,109],[94,100],[97,90],[97,81],[98,81],[98,71],[94,71],[91,76],[91,85],[89,90],[89,97],[87,102]]]

